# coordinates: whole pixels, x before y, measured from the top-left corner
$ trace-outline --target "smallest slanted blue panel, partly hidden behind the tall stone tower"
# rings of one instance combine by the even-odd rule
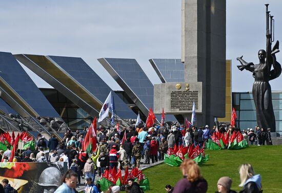
[[[161,80],[163,78],[165,82],[185,81],[184,63],[180,59],[151,59],[150,62],[152,66],[156,66],[156,73],[158,76],[162,76],[160,77]]]

